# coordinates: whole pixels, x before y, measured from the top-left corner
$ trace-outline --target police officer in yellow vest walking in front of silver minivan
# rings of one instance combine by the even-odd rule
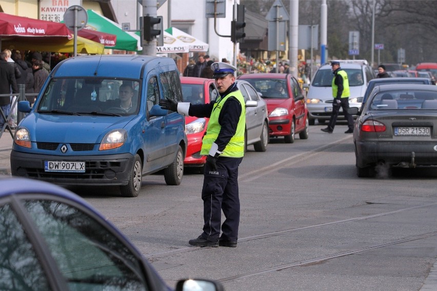
[[[329,119],[328,127],[321,129],[323,132],[332,133],[334,131],[337,117],[339,116],[340,107],[343,108],[343,113],[347,120],[348,130],[345,133],[353,132],[353,118],[347,111],[349,109],[349,79],[347,73],[340,68],[339,61],[331,61],[332,73],[332,96],[334,100],[332,102],[332,113]]]

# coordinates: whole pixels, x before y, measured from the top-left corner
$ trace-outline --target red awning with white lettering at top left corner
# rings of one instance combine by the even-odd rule
[[[0,36],[6,37],[66,37],[73,35],[63,23],[15,16],[0,12]]]

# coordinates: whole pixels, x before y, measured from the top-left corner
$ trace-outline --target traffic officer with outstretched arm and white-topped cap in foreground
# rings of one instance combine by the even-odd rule
[[[237,245],[240,224],[238,167],[244,155],[246,108],[243,95],[236,87],[236,68],[213,63],[213,78],[220,96],[209,104],[161,100],[163,109],[196,117],[209,117],[202,140],[202,155],[207,155],[202,189],[204,202],[203,233],[189,241],[194,246]],[[226,217],[221,225],[222,211]],[[222,236],[220,236],[222,231]]]

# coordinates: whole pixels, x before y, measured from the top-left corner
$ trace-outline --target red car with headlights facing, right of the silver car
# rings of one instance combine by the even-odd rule
[[[291,74],[246,74],[238,79],[248,81],[266,101],[270,137],[284,137],[286,143],[293,143],[297,133],[301,139],[308,138],[305,97],[299,82]]]

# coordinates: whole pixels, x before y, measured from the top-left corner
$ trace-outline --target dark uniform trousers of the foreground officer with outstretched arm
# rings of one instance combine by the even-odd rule
[[[204,226],[202,237],[215,241],[236,241],[240,224],[238,167],[243,158],[218,157],[217,170],[205,164],[202,200]],[[222,210],[225,221],[222,224]]]

